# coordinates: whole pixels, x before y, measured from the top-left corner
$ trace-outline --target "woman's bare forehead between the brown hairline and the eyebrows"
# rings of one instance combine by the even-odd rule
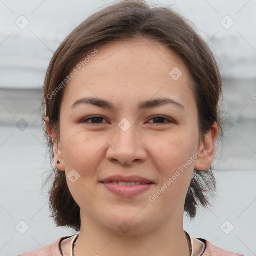
[[[192,80],[184,62],[160,42],[144,38],[123,40],[104,44],[97,50],[98,53],[88,56],[86,63],[80,62],[79,68],[76,65],[77,74],[64,93],[70,103],[82,96],[114,98],[127,103],[166,93],[176,101],[193,97],[189,88]]]

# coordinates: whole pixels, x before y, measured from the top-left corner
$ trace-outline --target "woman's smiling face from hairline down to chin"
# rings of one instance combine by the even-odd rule
[[[103,45],[80,69],[65,87],[54,148],[81,221],[138,234],[183,220],[202,161],[182,60],[161,43],[136,39]]]

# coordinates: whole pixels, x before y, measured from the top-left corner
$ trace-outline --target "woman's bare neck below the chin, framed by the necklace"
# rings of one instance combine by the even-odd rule
[[[134,251],[137,256],[189,256],[183,218],[164,221],[162,225],[143,234],[119,234],[95,223],[81,212],[81,229],[75,244],[75,256],[130,256]]]

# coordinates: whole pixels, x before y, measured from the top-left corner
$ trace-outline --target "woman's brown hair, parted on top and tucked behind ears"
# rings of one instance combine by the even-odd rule
[[[206,42],[195,32],[189,21],[169,7],[151,8],[141,0],[125,0],[106,7],[83,21],[61,43],[50,61],[44,81],[42,106],[43,118],[49,117],[56,139],[59,139],[60,102],[65,85],[63,81],[68,82],[65,80],[67,75],[96,47],[106,42],[132,38],[162,42],[179,54],[193,78],[192,89],[198,108],[200,140],[203,141],[214,121],[219,128],[218,135],[222,137],[218,109],[222,79]],[[44,131],[52,163],[52,140],[46,128]],[[51,176],[54,178],[48,192],[51,217],[57,226],[80,230],[80,208],[68,189],[65,172],[54,167],[47,180]],[[190,218],[196,215],[199,205],[206,207],[210,204],[208,194],[214,193],[215,188],[212,167],[204,171],[194,170],[184,207]]]

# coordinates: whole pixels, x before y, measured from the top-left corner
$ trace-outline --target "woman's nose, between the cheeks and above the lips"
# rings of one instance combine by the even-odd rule
[[[109,141],[106,159],[123,165],[145,161],[147,158],[146,145],[139,134],[132,125],[126,131],[117,126],[116,135]]]

